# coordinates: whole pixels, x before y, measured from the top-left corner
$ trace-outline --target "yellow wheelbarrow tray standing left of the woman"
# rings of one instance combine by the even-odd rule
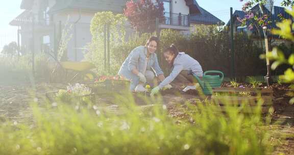
[[[65,83],[76,83],[89,82],[96,79],[96,74],[91,71],[91,69],[95,68],[95,66],[90,62],[63,61],[58,62],[58,64],[61,69],[59,70],[62,72],[58,72],[58,68],[54,69],[53,75],[55,75],[56,80],[63,79],[65,80]]]

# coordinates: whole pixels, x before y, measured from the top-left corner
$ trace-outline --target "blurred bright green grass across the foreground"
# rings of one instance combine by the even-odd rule
[[[265,131],[259,132],[260,112],[216,113],[206,102],[186,103],[187,119],[167,115],[167,107],[153,100],[153,108],[139,109],[129,95],[116,96],[120,115],[57,103],[46,110],[33,104],[34,125],[0,124],[0,154],[266,154]],[[148,101],[150,102],[150,101]],[[257,111],[259,108],[257,108]],[[192,123],[188,121],[192,120]]]

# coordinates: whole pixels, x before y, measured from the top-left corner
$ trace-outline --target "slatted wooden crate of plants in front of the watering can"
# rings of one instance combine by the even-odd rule
[[[273,90],[268,88],[214,88],[211,101],[226,112],[235,108],[240,112],[254,113],[261,105],[261,112],[268,113],[273,107]]]

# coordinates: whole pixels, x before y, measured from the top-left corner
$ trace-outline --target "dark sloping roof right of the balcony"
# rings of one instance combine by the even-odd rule
[[[201,13],[199,14],[191,14],[190,21],[191,23],[198,23],[198,24],[221,24],[224,25],[225,23],[206,11],[205,9],[199,7]]]

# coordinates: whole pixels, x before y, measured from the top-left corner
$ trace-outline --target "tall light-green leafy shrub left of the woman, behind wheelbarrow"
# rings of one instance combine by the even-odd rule
[[[108,38],[105,34],[105,28],[109,26],[110,30],[110,75],[117,73],[117,66],[121,63],[116,61],[119,51],[116,51],[114,45],[120,45],[125,42],[125,23],[126,17],[122,14],[113,14],[112,12],[98,12],[91,20],[90,31],[92,34],[92,41],[88,44],[89,51],[84,55],[85,60],[93,63],[96,66],[96,72],[100,75],[106,75],[107,69],[105,68],[105,47],[104,37]],[[105,27],[106,26],[106,27]]]

